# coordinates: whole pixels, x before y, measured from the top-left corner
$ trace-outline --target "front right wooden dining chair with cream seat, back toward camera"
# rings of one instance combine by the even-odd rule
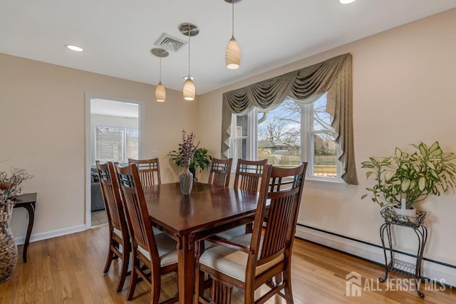
[[[204,273],[212,278],[210,299],[196,284],[199,303],[231,303],[233,286],[244,290],[246,304],[265,303],[273,295],[294,303],[291,249],[306,167],[307,163],[291,168],[264,166],[252,234],[230,241],[213,236],[209,241],[217,246],[197,253],[196,280]],[[263,227],[266,212],[268,221]],[[262,285],[269,290],[255,300],[255,290]]]

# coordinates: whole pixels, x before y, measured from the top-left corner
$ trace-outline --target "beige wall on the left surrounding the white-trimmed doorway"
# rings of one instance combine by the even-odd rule
[[[38,192],[33,239],[85,228],[86,93],[145,103],[142,155],[158,150],[162,180],[177,180],[166,154],[177,148],[182,127],[197,130],[197,100],[167,90],[156,103],[155,87],[0,54],[0,170],[25,168],[35,177],[25,192]],[[163,136],[163,135],[166,136]],[[15,209],[13,234],[26,231],[26,213]]]

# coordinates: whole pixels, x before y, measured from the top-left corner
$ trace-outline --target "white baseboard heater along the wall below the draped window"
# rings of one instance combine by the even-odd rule
[[[353,241],[351,239],[344,238],[343,236],[337,236],[303,226],[296,227],[296,236],[304,240],[319,243],[323,246],[328,246],[339,251],[350,253],[353,256],[365,258],[368,261],[373,261],[383,265],[385,264],[383,248],[379,248],[368,243]],[[387,251],[387,254],[389,254],[389,251]],[[400,261],[415,263],[415,258],[413,256],[407,256],[402,253],[395,253],[395,258]],[[356,271],[356,269],[353,269],[353,271]],[[456,286],[456,268],[435,263],[433,261],[423,260],[422,271],[425,278],[430,278],[438,282],[445,283],[446,285]]]

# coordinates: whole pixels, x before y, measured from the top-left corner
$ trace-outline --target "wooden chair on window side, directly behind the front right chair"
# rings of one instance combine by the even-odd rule
[[[268,159],[237,159],[236,175],[234,177],[234,189],[258,192],[264,165],[267,163]],[[237,236],[242,236],[244,234],[252,232],[252,227],[252,223],[246,224],[230,229],[228,231],[224,231],[217,236],[223,239],[234,239]]]

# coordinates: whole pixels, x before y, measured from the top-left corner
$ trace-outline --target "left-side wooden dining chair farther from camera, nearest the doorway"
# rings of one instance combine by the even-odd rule
[[[115,258],[120,258],[122,268],[116,291],[120,293],[128,275],[130,262],[130,235],[128,234],[127,220],[123,212],[122,199],[120,199],[119,185],[115,178],[113,162],[95,162],[100,177],[100,187],[105,204],[109,226],[109,249],[106,256],[103,273],[107,273]]]

